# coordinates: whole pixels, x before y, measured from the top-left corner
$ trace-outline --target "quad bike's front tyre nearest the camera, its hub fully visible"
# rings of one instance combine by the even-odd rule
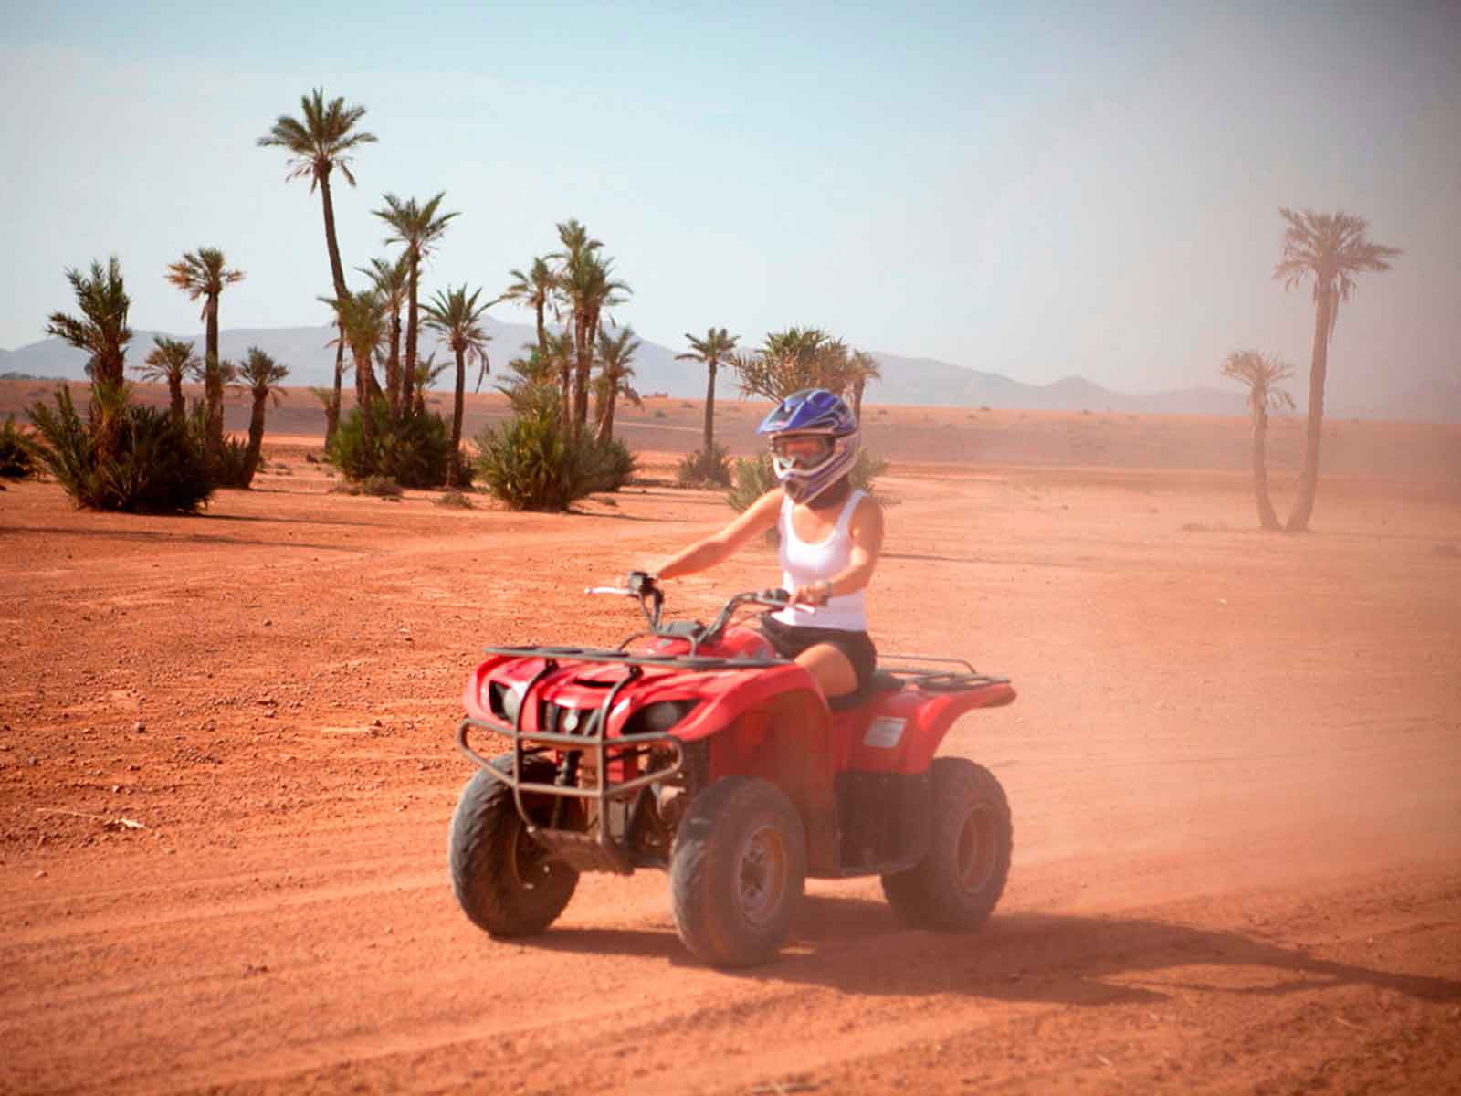
[[[675,928],[712,966],[764,963],[786,941],[806,881],[806,834],[782,791],[716,780],[690,804],[669,859]]]

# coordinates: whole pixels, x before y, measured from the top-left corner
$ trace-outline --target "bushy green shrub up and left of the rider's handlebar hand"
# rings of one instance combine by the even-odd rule
[[[473,444],[482,484],[513,510],[567,510],[596,491],[617,491],[636,468],[622,441],[574,441],[548,415],[484,430]]]

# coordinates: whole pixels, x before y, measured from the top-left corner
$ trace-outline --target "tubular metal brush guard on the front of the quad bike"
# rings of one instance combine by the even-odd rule
[[[611,801],[622,799],[637,801],[638,796],[643,795],[652,785],[678,776],[685,767],[685,751],[679,739],[668,731],[638,735],[618,735],[615,738],[609,738],[609,712],[614,710],[614,703],[618,700],[624,687],[643,677],[643,665],[665,665],[669,659],[665,659],[663,656],[644,656],[640,659],[624,653],[617,653],[617,658],[602,658],[602,655],[609,655],[609,652],[570,652],[568,649],[551,647],[507,647],[498,650],[501,653],[510,652],[514,655],[538,655],[539,658],[543,658],[543,668],[538,671],[538,674],[535,674],[523,688],[523,696],[519,701],[513,726],[488,719],[472,719],[469,716],[457,725],[457,747],[484,773],[513,789],[513,802],[517,807],[519,817],[527,827],[527,833],[548,850],[552,859],[561,859],[579,871],[611,871],[619,875],[633,874],[634,861],[630,855],[630,831],[633,830],[633,815],[636,811],[631,807],[631,817],[625,820],[622,836],[615,837],[609,824],[608,804]],[[574,661],[621,662],[627,666],[627,672],[622,678],[614,682],[614,687],[603,699],[603,703],[593,710],[593,715],[587,719],[587,728],[583,734],[524,731],[523,712],[529,707],[529,699],[532,697],[533,688],[536,688],[543,678],[558,669],[558,661],[554,655],[565,656],[570,653]],[[584,655],[590,655],[590,658],[586,659]],[[592,658],[592,655],[600,655],[600,658]],[[744,666],[745,663],[741,665]],[[476,753],[470,747],[468,737],[473,729],[492,731],[513,741],[511,772],[504,773],[487,757]],[[671,760],[668,764],[652,769],[650,772],[641,772],[638,776],[633,776],[618,783],[609,783],[608,773],[611,763],[619,763],[622,766],[628,758],[638,758],[641,754],[647,758],[650,757],[647,747],[656,745],[669,748]],[[539,756],[549,748],[579,754],[592,753],[596,773],[595,786],[580,788],[568,783],[542,783],[538,780],[519,779],[519,773],[523,772],[523,761],[527,757]],[[574,770],[577,770],[577,767],[574,767]],[[529,815],[527,808],[523,804],[524,792],[543,795],[552,799],[552,817],[548,826],[535,823]],[[557,821],[562,815],[562,805],[568,799],[592,801],[598,805],[596,831],[589,833],[557,827]]]

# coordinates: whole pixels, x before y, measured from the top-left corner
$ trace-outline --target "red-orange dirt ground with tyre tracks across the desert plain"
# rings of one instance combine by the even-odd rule
[[[327,494],[282,435],[200,517],[0,492],[0,1090],[1461,1090],[1457,428],[1335,424],[1278,536],[1240,422],[872,411],[880,646],[1020,688],[945,742],[1014,808],[986,928],[814,881],[783,957],[722,973],[638,872],[475,929],[476,650],[618,640],[579,592],[729,513],[669,487],[700,411],[662,409],[625,428],[684,434],[650,482],[571,516]],[[748,551],[671,606],[771,579]]]

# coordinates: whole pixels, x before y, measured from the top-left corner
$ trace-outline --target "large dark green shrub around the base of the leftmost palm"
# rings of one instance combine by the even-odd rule
[[[112,424],[111,456],[95,444],[101,415]],[[66,387],[57,389],[54,411],[37,402],[29,416],[44,438],[41,460],[80,507],[194,513],[213,491],[202,446],[188,430],[164,409],[131,403],[126,389],[95,392],[91,422],[76,414]]]

